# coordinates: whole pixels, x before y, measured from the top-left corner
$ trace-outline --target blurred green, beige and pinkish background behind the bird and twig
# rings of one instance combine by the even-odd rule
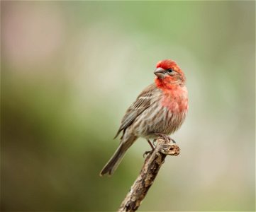
[[[189,114],[140,211],[255,211],[255,1],[1,1],[1,211],[115,211],[149,150],[99,171],[174,59]]]

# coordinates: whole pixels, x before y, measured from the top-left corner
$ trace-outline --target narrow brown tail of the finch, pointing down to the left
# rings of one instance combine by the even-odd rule
[[[108,160],[108,163],[103,167],[103,169],[100,172],[100,176],[103,175],[112,175],[113,172],[116,170],[118,165],[121,163],[121,160],[123,159],[123,156],[126,154],[126,151],[128,148],[133,144],[133,142],[137,139],[137,137],[130,138],[126,142],[121,142],[118,146],[115,153],[113,153],[113,156]]]

